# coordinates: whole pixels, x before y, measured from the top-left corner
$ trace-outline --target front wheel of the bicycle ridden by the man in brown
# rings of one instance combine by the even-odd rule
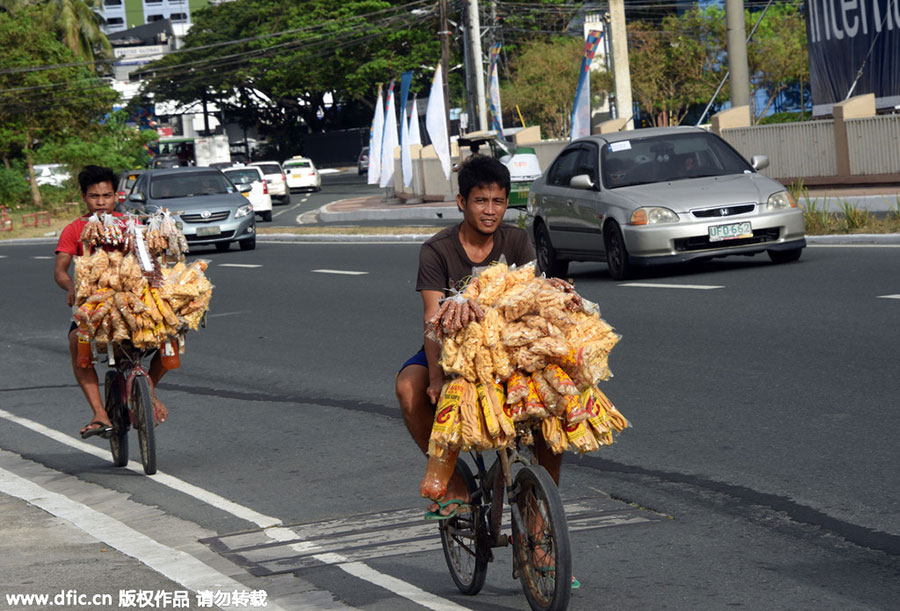
[[[534,611],[562,611],[572,593],[572,556],[556,484],[532,465],[516,475],[516,490],[512,509],[521,521],[513,516],[513,555],[525,598]]]

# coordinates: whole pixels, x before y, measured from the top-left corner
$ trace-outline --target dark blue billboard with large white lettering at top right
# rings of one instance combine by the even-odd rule
[[[806,35],[814,115],[864,93],[900,105],[900,0],[806,0]]]

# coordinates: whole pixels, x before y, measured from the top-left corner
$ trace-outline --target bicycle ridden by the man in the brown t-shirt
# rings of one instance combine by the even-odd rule
[[[516,447],[497,452],[485,469],[480,452],[471,452],[477,475],[462,459],[456,471],[469,490],[471,511],[441,520],[441,545],[450,576],[463,594],[484,586],[493,548],[513,546],[513,579],[519,579],[534,611],[562,611],[569,604],[572,556],[562,500],[553,478],[532,454]],[[512,465],[524,465],[513,478]],[[503,492],[510,507],[511,536],[501,530]]]

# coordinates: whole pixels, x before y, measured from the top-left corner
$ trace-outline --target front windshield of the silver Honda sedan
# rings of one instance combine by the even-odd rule
[[[753,171],[722,140],[696,132],[610,142],[600,167],[609,189]]]

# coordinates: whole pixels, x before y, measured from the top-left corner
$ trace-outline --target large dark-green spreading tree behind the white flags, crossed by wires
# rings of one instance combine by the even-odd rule
[[[195,15],[184,48],[145,89],[183,104],[215,100],[258,120],[284,155],[308,131],[364,125],[375,87],[440,56],[437,11],[386,0],[240,0]],[[422,9],[425,10],[425,9]],[[239,41],[239,42],[229,42]],[[413,90],[427,91],[417,71]]]

